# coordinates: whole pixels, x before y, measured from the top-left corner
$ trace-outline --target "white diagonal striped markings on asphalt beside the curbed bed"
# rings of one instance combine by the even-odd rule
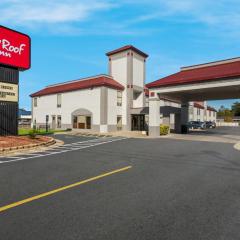
[[[115,141],[120,141],[120,140],[124,140],[124,139],[126,139],[126,138],[109,138],[109,139],[105,138],[105,139],[103,139],[104,141],[102,141],[102,139],[94,139],[95,142],[93,142],[93,140],[78,142],[78,144],[79,143],[84,143],[84,144],[79,144],[78,146],[76,145],[77,143],[66,144],[66,145],[63,145],[63,146],[58,146],[58,147],[53,148],[53,149],[49,149],[46,152],[43,152],[43,154],[41,154],[41,153],[28,153],[28,154],[23,154],[23,155],[18,156],[18,157],[6,157],[5,159],[10,159],[10,160],[0,161],[0,164],[18,162],[18,161],[23,161],[23,160],[27,160],[27,159],[46,157],[46,156],[56,155],[56,154],[60,154],[60,153],[77,151],[77,150],[86,149],[86,148],[90,148],[90,147],[94,147],[94,146],[99,146],[99,145],[102,145],[102,144],[111,143],[111,142],[115,142]],[[98,141],[96,141],[96,140],[98,140]],[[60,147],[62,147],[62,148],[60,148]]]

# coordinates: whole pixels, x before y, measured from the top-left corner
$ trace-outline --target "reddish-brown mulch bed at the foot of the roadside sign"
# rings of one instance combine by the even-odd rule
[[[29,145],[29,144],[39,144],[39,143],[48,142],[49,140],[50,138],[46,136],[37,136],[34,139],[28,136],[0,137],[0,148],[18,147],[18,146]]]

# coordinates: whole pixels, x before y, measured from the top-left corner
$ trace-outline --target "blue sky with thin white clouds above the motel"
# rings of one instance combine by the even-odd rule
[[[26,109],[46,85],[107,73],[105,53],[123,45],[149,54],[146,83],[240,56],[239,0],[1,0],[0,15],[32,39],[32,67],[20,74]]]

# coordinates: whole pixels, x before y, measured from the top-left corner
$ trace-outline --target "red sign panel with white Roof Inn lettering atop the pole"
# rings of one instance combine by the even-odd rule
[[[0,26],[0,64],[27,70],[31,67],[29,36]]]

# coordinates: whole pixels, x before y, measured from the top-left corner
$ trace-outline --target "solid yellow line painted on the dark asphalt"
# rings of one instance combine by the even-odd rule
[[[113,175],[113,174],[115,174],[115,173],[127,171],[127,170],[129,170],[130,168],[132,168],[132,166],[127,166],[127,167],[124,167],[124,168],[116,169],[116,170],[114,170],[114,171],[111,171],[111,172],[107,172],[107,173],[103,173],[103,174],[101,174],[101,175],[98,175],[98,176],[96,176],[96,177],[88,178],[88,179],[85,179],[85,180],[80,181],[80,182],[77,182],[77,183],[73,183],[73,184],[70,184],[70,185],[67,185],[67,186],[64,186],[64,187],[61,187],[61,188],[54,189],[54,190],[49,191],[49,192],[45,192],[45,193],[42,193],[42,194],[39,194],[39,195],[30,197],[30,198],[26,198],[26,199],[24,199],[24,200],[21,200],[21,201],[15,202],[15,203],[11,203],[11,204],[9,204],[9,205],[0,207],[0,212],[4,212],[4,211],[6,211],[6,210],[8,210],[8,209],[10,209],[10,208],[14,208],[14,207],[17,207],[17,206],[20,206],[20,205],[23,205],[23,204],[26,204],[26,203],[29,203],[29,202],[38,200],[38,199],[40,199],[40,198],[44,198],[44,197],[47,197],[47,196],[49,196],[49,195],[53,195],[53,194],[58,193],[58,192],[62,192],[62,191],[65,191],[65,190],[67,190],[67,189],[69,189],[69,188],[74,188],[74,187],[77,187],[77,186],[79,186],[79,185],[82,185],[82,184],[85,184],[85,183],[89,183],[89,182],[98,180],[98,179],[100,179],[100,178],[104,178],[104,177]]]

